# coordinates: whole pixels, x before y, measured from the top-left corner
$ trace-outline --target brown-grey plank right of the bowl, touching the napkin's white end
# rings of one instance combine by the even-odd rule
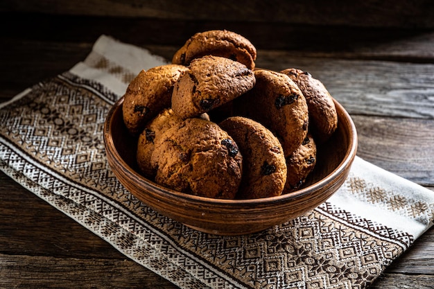
[[[434,185],[434,119],[352,116],[358,156],[425,186]]]

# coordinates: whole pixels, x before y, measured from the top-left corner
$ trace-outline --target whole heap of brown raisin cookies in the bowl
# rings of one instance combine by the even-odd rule
[[[137,165],[169,189],[207,198],[267,198],[302,186],[338,116],[300,69],[255,68],[256,48],[227,30],[193,35],[172,64],[128,86],[123,121]]]

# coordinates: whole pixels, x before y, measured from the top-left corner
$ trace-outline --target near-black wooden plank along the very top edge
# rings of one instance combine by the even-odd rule
[[[385,1],[62,1],[3,0],[1,11],[59,15],[151,17],[205,21],[274,22],[306,25],[433,28],[433,3]]]

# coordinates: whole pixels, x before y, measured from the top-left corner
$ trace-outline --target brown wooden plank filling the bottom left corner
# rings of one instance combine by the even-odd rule
[[[0,268],[0,288],[177,288],[127,259],[0,254]]]

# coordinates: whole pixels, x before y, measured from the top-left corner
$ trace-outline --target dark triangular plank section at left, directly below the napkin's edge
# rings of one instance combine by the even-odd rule
[[[103,239],[0,172],[0,252],[123,259]],[[80,238],[77,238],[80,236]]]

